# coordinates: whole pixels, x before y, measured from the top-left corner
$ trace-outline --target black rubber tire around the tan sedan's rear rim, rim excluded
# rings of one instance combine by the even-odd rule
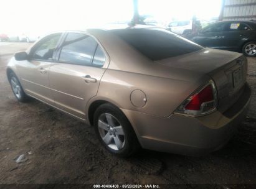
[[[98,131],[98,118],[101,114],[109,113],[113,115],[118,122],[120,122],[121,126],[123,127],[123,131],[125,132],[125,146],[121,150],[113,150],[108,147],[105,142],[103,142],[102,137]],[[98,107],[95,111],[93,116],[93,126],[95,128],[95,132],[97,134],[98,139],[103,144],[103,146],[110,151],[112,154],[118,155],[119,157],[129,157],[130,155],[135,154],[136,150],[138,149],[138,139],[136,138],[135,132],[133,131],[130,122],[126,118],[126,116],[121,112],[119,108],[106,103],[102,104]]]

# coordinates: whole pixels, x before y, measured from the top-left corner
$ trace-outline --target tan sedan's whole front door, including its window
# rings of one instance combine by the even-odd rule
[[[51,34],[40,40],[29,53],[29,60],[19,64],[21,82],[27,94],[54,104],[49,86],[49,68],[54,64],[54,52],[61,33]]]

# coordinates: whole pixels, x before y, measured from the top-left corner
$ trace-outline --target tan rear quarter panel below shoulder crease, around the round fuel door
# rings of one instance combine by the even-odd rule
[[[110,101],[121,109],[168,117],[204,81],[191,83],[108,69],[100,82],[97,99]],[[131,93],[134,90],[141,90],[146,94],[145,106],[138,108],[131,103]]]

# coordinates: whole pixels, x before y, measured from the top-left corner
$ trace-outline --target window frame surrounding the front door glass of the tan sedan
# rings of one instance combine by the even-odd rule
[[[32,57],[32,54],[34,54],[34,52],[36,52],[37,48],[45,42],[45,40],[48,39],[48,37],[50,37],[51,35],[57,35],[57,34],[60,34],[60,39],[58,40],[57,44],[55,45],[54,47],[54,53],[52,54],[52,60],[44,60],[44,59],[37,59],[37,58],[33,58]],[[40,61],[40,62],[56,62],[56,59],[55,59],[55,55],[56,55],[56,52],[57,52],[57,47],[59,46],[60,42],[62,41],[62,38],[64,36],[64,32],[55,32],[55,33],[52,33],[52,34],[49,34],[49,35],[45,35],[42,39],[40,39],[32,48],[31,50],[29,51],[29,60],[34,60],[34,61]],[[35,49],[36,48],[36,49]]]

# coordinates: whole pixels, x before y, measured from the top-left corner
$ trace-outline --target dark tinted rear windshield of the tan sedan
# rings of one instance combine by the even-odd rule
[[[165,29],[120,29],[112,32],[151,60],[184,55],[203,48]]]

